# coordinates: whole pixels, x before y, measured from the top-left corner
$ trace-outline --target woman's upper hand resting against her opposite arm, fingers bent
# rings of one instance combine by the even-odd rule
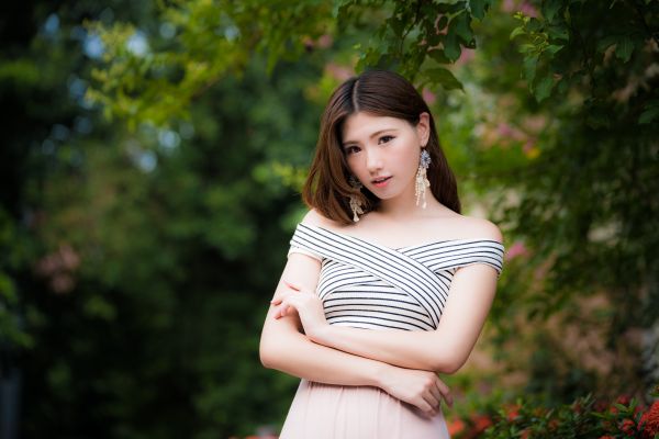
[[[297,311],[300,315],[304,334],[310,338],[328,326],[325,319],[323,303],[317,294],[304,291],[299,285],[286,280],[282,280],[282,282],[288,286],[288,290],[276,294],[270,301],[273,306],[278,306],[273,314],[275,318],[283,317],[293,309]]]

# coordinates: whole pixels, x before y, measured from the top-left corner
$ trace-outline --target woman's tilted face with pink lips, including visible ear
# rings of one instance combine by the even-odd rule
[[[429,116],[422,113],[416,126],[396,117],[359,112],[346,119],[342,147],[357,179],[381,200],[414,191],[421,145],[429,136]],[[379,180],[387,178],[386,181]]]

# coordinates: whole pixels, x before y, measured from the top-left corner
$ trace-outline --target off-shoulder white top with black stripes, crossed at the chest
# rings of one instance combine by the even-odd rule
[[[316,292],[332,325],[436,329],[458,268],[485,263],[498,274],[504,247],[490,239],[437,240],[398,249],[298,224],[289,255],[322,261]]]

